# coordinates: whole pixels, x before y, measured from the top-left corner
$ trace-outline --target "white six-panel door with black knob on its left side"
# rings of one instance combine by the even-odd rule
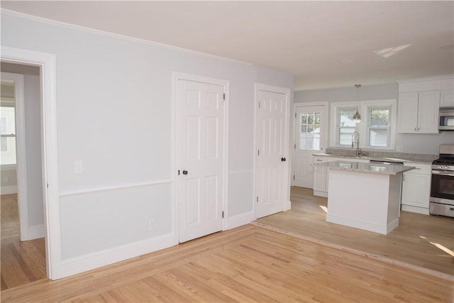
[[[224,87],[178,81],[179,242],[221,231]]]

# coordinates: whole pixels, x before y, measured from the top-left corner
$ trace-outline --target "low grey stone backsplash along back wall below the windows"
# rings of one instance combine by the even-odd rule
[[[431,162],[433,160],[438,159],[438,155],[425,155],[419,153],[397,153],[397,152],[388,152],[388,151],[381,151],[381,150],[367,150],[367,157],[369,158],[399,158],[411,161],[423,161],[423,162]],[[347,156],[347,157],[355,157],[356,150],[355,149],[345,149],[345,148],[326,148],[325,153],[328,155],[333,156]]]

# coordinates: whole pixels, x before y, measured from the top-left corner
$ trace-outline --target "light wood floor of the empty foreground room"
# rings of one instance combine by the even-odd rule
[[[242,226],[2,302],[452,302],[453,283],[258,226]]]

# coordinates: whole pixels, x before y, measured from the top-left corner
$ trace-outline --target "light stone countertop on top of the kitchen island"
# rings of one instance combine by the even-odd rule
[[[413,170],[415,167],[404,165],[389,165],[377,163],[362,163],[351,161],[331,161],[314,163],[315,166],[325,166],[331,170],[351,170],[354,172],[368,172],[380,175],[397,175],[401,172]]]

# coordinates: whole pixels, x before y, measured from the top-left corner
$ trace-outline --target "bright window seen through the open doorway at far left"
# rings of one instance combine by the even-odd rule
[[[14,90],[14,82],[1,81],[0,106],[0,165],[16,165],[16,108],[14,96],[4,97]]]

